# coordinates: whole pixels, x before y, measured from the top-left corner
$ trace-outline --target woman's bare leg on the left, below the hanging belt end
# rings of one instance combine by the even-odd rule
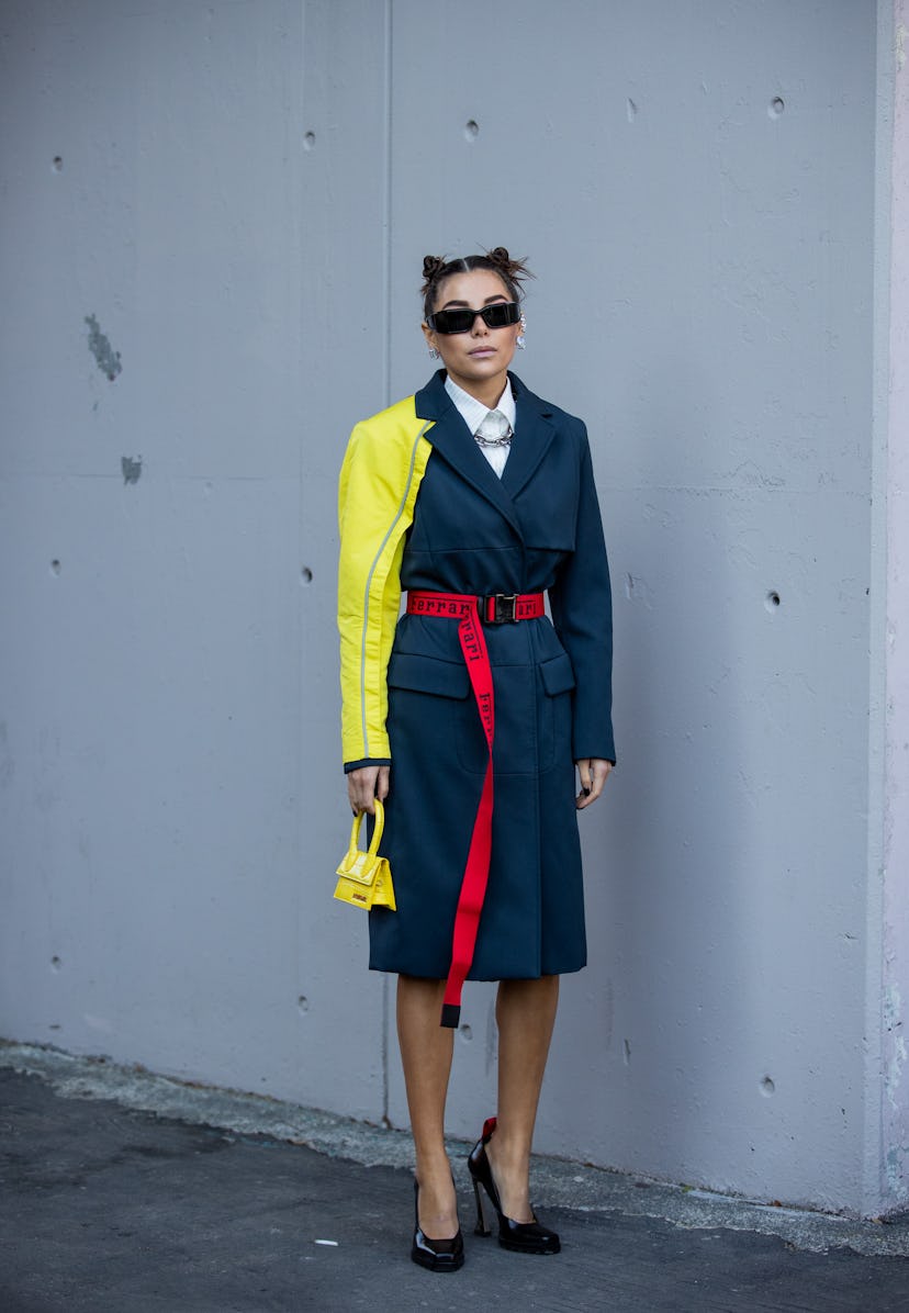
[[[416,1150],[419,1220],[431,1239],[457,1232],[457,1203],[445,1153],[445,1098],[454,1031],[441,1027],[444,981],[398,977],[398,1043]]]

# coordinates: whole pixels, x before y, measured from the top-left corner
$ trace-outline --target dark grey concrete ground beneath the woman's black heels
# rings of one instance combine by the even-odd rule
[[[462,1163],[468,1148],[452,1144]],[[560,1255],[409,1259],[399,1132],[0,1044],[0,1313],[909,1310],[909,1217],[858,1222],[556,1159]]]

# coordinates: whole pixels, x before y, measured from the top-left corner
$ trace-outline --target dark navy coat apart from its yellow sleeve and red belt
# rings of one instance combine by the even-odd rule
[[[610,574],[581,420],[515,377],[515,436],[499,479],[440,370],[414,404],[432,454],[403,558],[405,590],[549,593],[548,617],[486,625],[495,689],[495,805],[470,979],[586,962],[574,762],[615,760]],[[388,667],[391,756],[381,851],[398,910],[369,914],[377,970],[441,979],[486,769],[457,620],[402,616]]]

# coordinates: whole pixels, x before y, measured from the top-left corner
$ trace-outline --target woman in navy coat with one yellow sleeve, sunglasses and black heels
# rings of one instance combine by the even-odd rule
[[[531,1142],[558,977],[586,962],[575,809],[615,763],[612,622],[585,427],[508,373],[527,268],[498,247],[427,256],[423,274],[444,368],[353,429],[339,628],[348,797],[384,801],[395,886],[397,911],[370,913],[369,965],[398,974],[411,1257],[454,1271],[444,1109],[465,977],[499,981],[498,1115],[469,1158],[477,1230],[482,1186],[504,1247],[560,1249],[531,1208]]]

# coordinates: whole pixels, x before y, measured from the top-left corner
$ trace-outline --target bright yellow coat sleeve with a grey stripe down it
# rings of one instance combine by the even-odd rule
[[[432,446],[414,398],[357,424],[342,466],[338,516],[344,765],[391,760],[386,675],[401,607],[405,534]]]

